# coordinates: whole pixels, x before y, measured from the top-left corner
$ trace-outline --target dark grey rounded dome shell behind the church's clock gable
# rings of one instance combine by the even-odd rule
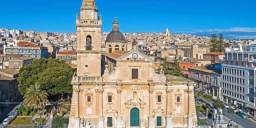
[[[124,34],[119,30],[113,30],[108,34],[106,42],[126,42]]]

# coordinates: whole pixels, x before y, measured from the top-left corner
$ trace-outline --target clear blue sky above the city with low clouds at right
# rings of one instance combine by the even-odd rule
[[[82,0],[1,0],[0,28],[76,32]],[[163,32],[256,39],[256,0],[96,0],[102,32]]]

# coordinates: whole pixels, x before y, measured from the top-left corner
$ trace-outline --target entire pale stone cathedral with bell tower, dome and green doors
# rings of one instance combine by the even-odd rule
[[[130,50],[119,47],[102,55],[102,17],[95,0],[82,1],[76,28],[78,63],[69,128],[196,127],[193,81],[156,73],[154,60],[138,51],[135,41]],[[120,33],[111,36],[110,43],[125,41]]]

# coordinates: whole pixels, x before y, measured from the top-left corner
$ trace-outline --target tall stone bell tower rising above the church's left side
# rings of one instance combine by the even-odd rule
[[[77,76],[101,76],[101,28],[95,0],[83,0],[76,13]]]

